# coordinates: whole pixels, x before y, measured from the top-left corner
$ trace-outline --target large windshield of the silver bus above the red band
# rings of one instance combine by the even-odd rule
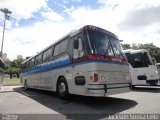
[[[125,58],[118,39],[105,33],[89,31],[92,54]]]

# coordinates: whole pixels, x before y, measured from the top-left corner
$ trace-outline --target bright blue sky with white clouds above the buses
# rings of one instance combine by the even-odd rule
[[[0,0],[12,11],[3,53],[9,59],[33,56],[84,25],[116,34],[123,44],[160,47],[160,0]],[[0,12],[0,46],[4,15]]]

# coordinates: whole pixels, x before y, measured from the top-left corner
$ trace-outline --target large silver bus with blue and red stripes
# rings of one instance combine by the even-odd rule
[[[116,35],[86,25],[22,63],[24,88],[107,96],[130,91],[128,61]]]

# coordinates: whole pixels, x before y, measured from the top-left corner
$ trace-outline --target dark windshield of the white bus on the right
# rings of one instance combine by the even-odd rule
[[[125,55],[133,68],[148,67],[148,65],[153,65],[148,52],[134,54],[126,53]]]

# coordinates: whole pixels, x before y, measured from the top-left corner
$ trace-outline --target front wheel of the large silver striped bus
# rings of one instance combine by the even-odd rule
[[[65,78],[61,77],[57,84],[57,93],[61,98],[67,98],[69,95],[68,85]]]

